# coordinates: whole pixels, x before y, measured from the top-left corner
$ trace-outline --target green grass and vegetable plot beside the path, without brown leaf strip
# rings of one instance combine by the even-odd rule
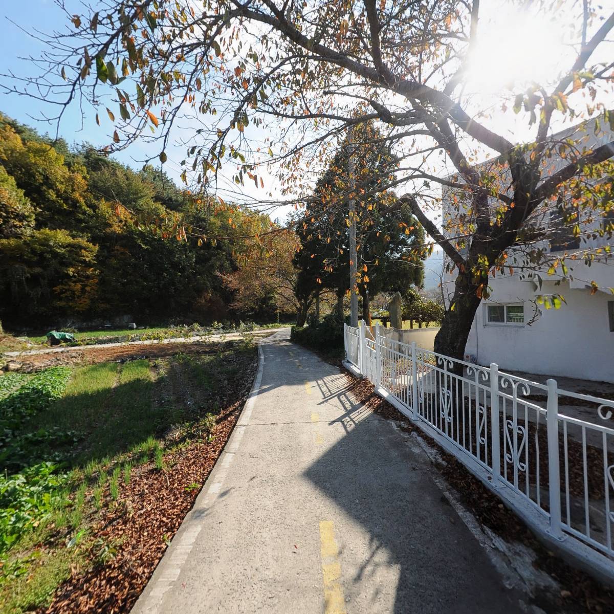
[[[201,348],[0,376],[1,612],[46,607],[76,570],[111,565],[130,532],[101,530],[108,518],[129,525],[141,490],[166,489],[181,454],[214,445],[257,350],[251,340]]]

